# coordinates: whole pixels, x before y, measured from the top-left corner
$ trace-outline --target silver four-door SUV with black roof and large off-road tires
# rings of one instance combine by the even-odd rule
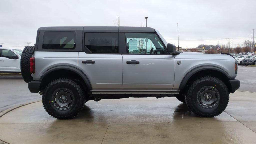
[[[150,27],[41,27],[21,72],[58,119],[75,117],[88,100],[172,96],[214,117],[240,86],[231,55],[179,52]]]

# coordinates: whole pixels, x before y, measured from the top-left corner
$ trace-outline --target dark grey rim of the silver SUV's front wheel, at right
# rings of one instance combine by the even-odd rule
[[[197,103],[202,108],[213,108],[219,103],[219,101],[219,91],[213,86],[204,86],[197,92]]]

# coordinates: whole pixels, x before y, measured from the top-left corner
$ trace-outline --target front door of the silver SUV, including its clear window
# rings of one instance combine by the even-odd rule
[[[123,90],[172,90],[175,59],[154,33],[126,33]]]

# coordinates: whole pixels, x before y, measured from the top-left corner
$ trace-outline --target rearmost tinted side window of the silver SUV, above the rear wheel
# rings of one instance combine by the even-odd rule
[[[75,49],[76,32],[45,32],[43,49]]]

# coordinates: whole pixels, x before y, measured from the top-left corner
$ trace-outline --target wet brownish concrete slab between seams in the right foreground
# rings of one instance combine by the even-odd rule
[[[240,122],[124,124],[111,122],[103,144],[119,143],[255,143],[256,133]]]

